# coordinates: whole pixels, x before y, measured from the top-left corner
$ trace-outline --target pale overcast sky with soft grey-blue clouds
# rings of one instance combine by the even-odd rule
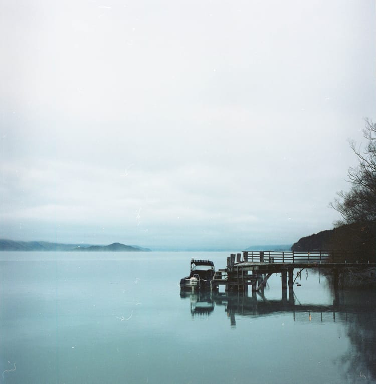
[[[240,251],[340,218],[374,0],[19,0],[0,32],[0,237]]]

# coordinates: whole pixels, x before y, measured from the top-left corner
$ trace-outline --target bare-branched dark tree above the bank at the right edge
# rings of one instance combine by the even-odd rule
[[[351,188],[348,192],[338,192],[338,198],[330,203],[343,218],[337,225],[376,225],[376,123],[365,119],[363,136],[367,141],[363,150],[354,141],[350,142],[359,161],[357,167],[348,170]]]

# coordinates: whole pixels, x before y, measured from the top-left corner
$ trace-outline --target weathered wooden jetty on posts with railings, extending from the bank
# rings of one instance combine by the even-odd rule
[[[305,269],[331,271],[334,288],[337,288],[339,270],[365,270],[375,267],[376,263],[356,261],[354,254],[345,251],[243,251],[243,255],[233,253],[227,258],[227,267],[216,272],[211,289],[218,290],[220,285],[225,285],[226,291],[240,292],[248,291],[248,286],[252,286],[252,291],[257,292],[265,287],[274,273],[281,274],[282,290],[292,289],[295,269],[299,270],[297,276]]]

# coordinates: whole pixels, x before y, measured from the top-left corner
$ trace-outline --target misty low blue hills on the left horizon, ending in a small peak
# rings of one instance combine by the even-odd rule
[[[48,241],[14,241],[0,239],[0,251],[151,251],[138,245],[124,245],[114,242],[110,245],[91,245],[91,244],[61,244]]]

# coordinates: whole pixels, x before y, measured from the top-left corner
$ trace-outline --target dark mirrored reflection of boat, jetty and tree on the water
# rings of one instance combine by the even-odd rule
[[[376,380],[376,292],[369,290],[340,290],[333,292],[333,303],[302,304],[293,290],[282,292],[281,300],[268,300],[264,292],[248,296],[240,293],[183,292],[180,297],[187,299],[191,314],[209,315],[215,307],[225,308],[230,325],[236,328],[237,319],[242,317],[274,316],[291,313],[297,323],[340,322],[345,326],[351,347],[341,356],[343,379],[356,382]],[[189,299],[189,300],[188,300]]]

